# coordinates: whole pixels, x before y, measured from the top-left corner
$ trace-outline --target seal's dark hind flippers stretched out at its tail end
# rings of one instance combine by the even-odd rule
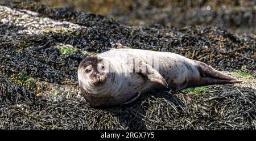
[[[199,86],[207,86],[212,84],[234,84],[241,83],[241,80],[236,80],[228,75],[223,74],[220,71],[213,69],[203,62],[196,61],[198,64],[198,70],[201,74],[201,80],[197,84]]]

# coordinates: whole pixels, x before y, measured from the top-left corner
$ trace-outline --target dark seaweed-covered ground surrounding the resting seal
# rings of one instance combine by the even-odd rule
[[[130,26],[31,2],[0,5],[0,19],[0,129],[256,129],[254,36],[203,25]],[[112,48],[174,52],[244,82],[151,91],[130,106],[94,108],[80,95],[77,67]]]

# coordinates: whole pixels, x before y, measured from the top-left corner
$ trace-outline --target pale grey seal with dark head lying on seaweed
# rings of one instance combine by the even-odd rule
[[[113,49],[83,59],[81,94],[92,106],[130,104],[152,89],[180,89],[240,83],[203,62],[170,52]]]

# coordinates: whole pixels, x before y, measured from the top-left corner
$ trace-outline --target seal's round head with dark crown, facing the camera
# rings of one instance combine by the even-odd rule
[[[107,79],[104,61],[96,56],[85,58],[79,65],[78,75],[86,87],[102,86]]]

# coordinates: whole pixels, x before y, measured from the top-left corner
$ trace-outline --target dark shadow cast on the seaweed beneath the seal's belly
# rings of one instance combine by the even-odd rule
[[[166,99],[169,102],[172,102],[177,107],[184,107],[184,103],[175,95],[172,95],[168,91],[151,91],[144,93],[139,97],[138,101],[133,102],[126,106],[120,106],[116,108],[108,108],[103,110],[108,110],[115,117],[119,118],[119,121],[126,125],[126,129],[138,130],[138,129],[147,129],[144,124],[143,119],[146,115],[146,110],[148,109],[148,99],[154,97],[153,99]],[[155,101],[157,102],[157,101]],[[147,120],[147,119],[146,119]]]

